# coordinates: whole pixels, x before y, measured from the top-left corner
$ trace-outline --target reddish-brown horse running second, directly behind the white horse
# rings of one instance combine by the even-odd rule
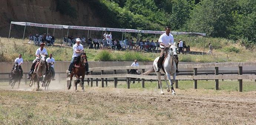
[[[80,59],[80,60],[79,60]],[[79,78],[82,76],[82,91],[85,91],[83,88],[83,80],[85,79],[85,66],[87,63],[87,56],[86,53],[82,53],[81,56],[79,57],[78,61],[76,61],[74,68],[72,69],[72,73],[70,74],[70,81],[69,81],[69,86],[68,89],[71,87],[71,82],[73,79],[73,76],[76,76],[76,90],[77,91],[77,84],[80,82]]]

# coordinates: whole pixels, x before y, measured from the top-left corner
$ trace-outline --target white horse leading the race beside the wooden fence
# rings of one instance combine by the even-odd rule
[[[174,44],[170,44],[168,46],[168,50],[165,54],[166,57],[165,57],[165,60],[163,62],[163,67],[161,68],[160,72],[155,72],[157,74],[157,77],[158,77],[158,81],[159,81],[159,84],[160,84],[160,88],[161,88],[161,94],[164,95],[164,92],[163,92],[163,89],[162,89],[162,82],[161,82],[161,72],[164,72],[165,75],[164,75],[164,80],[167,84],[167,92],[170,92],[170,86],[171,86],[171,90],[172,90],[172,94],[175,95],[175,91],[174,91],[174,88],[173,88],[173,83],[175,82],[175,77],[176,77],[176,64],[175,64],[175,61],[174,61],[174,56],[177,56],[177,47],[175,46],[175,43]],[[154,72],[156,69],[157,69],[157,61],[158,61],[159,57],[155,58],[154,60],[154,63],[153,63],[153,66],[152,66],[152,69],[151,70],[148,70],[147,72],[143,73],[142,75],[148,75],[149,73],[152,73]],[[171,76],[173,76],[173,80],[171,80]],[[170,86],[168,85],[168,82],[167,82],[167,78],[170,82]]]

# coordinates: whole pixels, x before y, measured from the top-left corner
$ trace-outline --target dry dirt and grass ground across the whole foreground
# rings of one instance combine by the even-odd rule
[[[58,89],[56,89],[56,88]],[[0,124],[255,125],[256,92],[0,86]],[[24,89],[27,88],[27,89]],[[41,87],[42,89],[42,87]],[[81,90],[81,88],[79,88]]]

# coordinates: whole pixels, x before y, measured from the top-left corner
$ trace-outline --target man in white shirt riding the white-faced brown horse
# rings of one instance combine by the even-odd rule
[[[44,48],[45,46],[45,43],[40,43],[40,48],[38,48],[36,50],[36,59],[33,61],[33,64],[31,66],[31,69],[30,69],[30,72],[29,72],[29,77],[27,79],[30,79],[31,78],[31,75],[33,74],[34,70],[35,70],[35,66],[36,66],[36,63],[40,61],[40,54],[44,54],[45,56],[48,55],[47,53],[47,50]],[[46,63],[46,73],[48,72],[48,66],[47,66],[47,62]]]

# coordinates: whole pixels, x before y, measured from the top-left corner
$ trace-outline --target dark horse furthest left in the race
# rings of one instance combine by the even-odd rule
[[[20,80],[21,80],[22,76],[21,76],[21,71],[19,70],[19,65],[18,63],[15,63],[14,66],[13,66],[13,70],[12,70],[12,79],[14,80],[12,82],[12,79],[11,79],[11,86],[13,88],[13,86],[15,85],[15,83],[17,81],[19,81],[19,86],[18,88],[20,87]]]

